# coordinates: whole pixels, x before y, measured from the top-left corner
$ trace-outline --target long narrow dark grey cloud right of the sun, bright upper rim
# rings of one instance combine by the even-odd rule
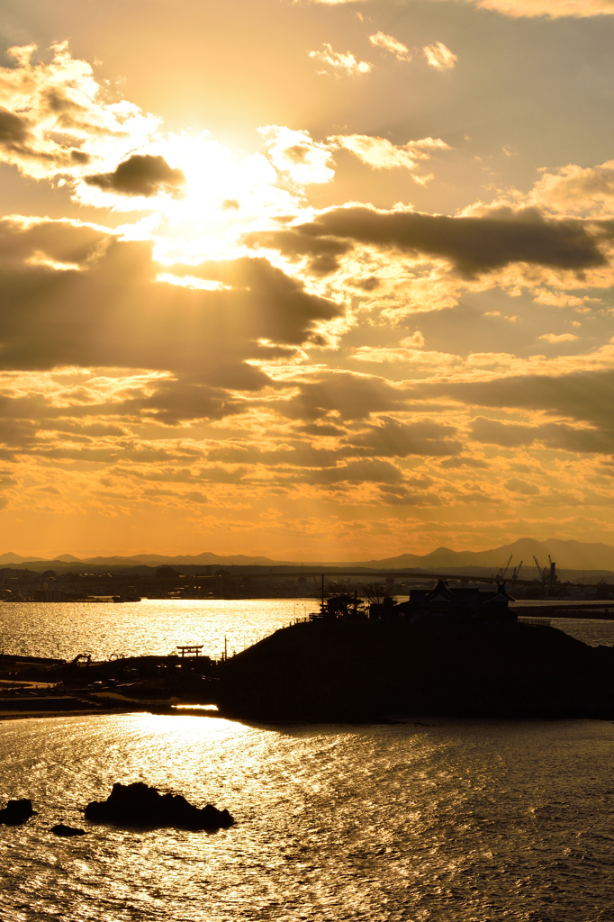
[[[283,233],[287,235],[284,242]],[[305,238],[338,238],[449,259],[466,276],[526,262],[582,270],[606,259],[579,221],[546,221],[527,209],[485,218],[449,218],[371,207],[332,208],[311,223],[277,234],[277,246],[295,248]]]

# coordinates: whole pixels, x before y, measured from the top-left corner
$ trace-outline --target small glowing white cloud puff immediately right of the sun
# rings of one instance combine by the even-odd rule
[[[332,151],[313,140],[308,131],[292,131],[277,124],[258,129],[274,167],[294,183],[329,183],[335,171],[329,166]]]

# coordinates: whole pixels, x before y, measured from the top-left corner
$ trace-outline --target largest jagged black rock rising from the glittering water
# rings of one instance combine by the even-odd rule
[[[143,782],[115,784],[106,800],[94,800],[85,809],[86,820],[116,826],[171,826],[175,829],[227,829],[234,820],[228,810],[212,804],[199,809],[180,794],[160,794]]]

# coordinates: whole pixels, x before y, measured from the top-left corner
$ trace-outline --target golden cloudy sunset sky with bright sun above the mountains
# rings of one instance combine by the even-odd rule
[[[0,30],[0,552],[614,544],[614,0]]]

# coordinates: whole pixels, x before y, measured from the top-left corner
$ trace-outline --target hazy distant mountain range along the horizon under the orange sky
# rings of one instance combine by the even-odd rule
[[[398,557],[386,557],[371,561],[329,561],[326,566],[360,566],[373,569],[401,570],[406,568],[419,568],[422,570],[441,570],[445,567],[494,567],[497,570],[503,566],[512,555],[512,566],[517,566],[524,561],[525,567],[533,567],[533,557],[542,566],[548,565],[548,557],[556,562],[559,570],[614,570],[614,547],[609,544],[590,544],[583,541],[563,541],[559,538],[549,538],[547,541],[536,541],[534,538],[519,538],[514,544],[504,544],[499,548],[490,550],[451,550],[438,548],[429,554],[400,554]],[[146,564],[159,566],[161,564],[184,565],[211,565],[217,564],[244,565],[244,566],[291,566],[291,561],[274,561],[269,557],[250,557],[245,554],[213,554],[209,551],[202,554],[178,554],[165,556],[162,554],[135,554],[132,557],[88,557],[79,559],[72,554],[60,554],[53,561],[45,561],[41,557],[21,557],[19,554],[6,553],[0,555],[0,566],[10,564],[48,562],[53,563],[91,563],[94,566],[125,567]],[[306,565],[323,565],[324,561]],[[39,569],[37,567],[37,569]]]

